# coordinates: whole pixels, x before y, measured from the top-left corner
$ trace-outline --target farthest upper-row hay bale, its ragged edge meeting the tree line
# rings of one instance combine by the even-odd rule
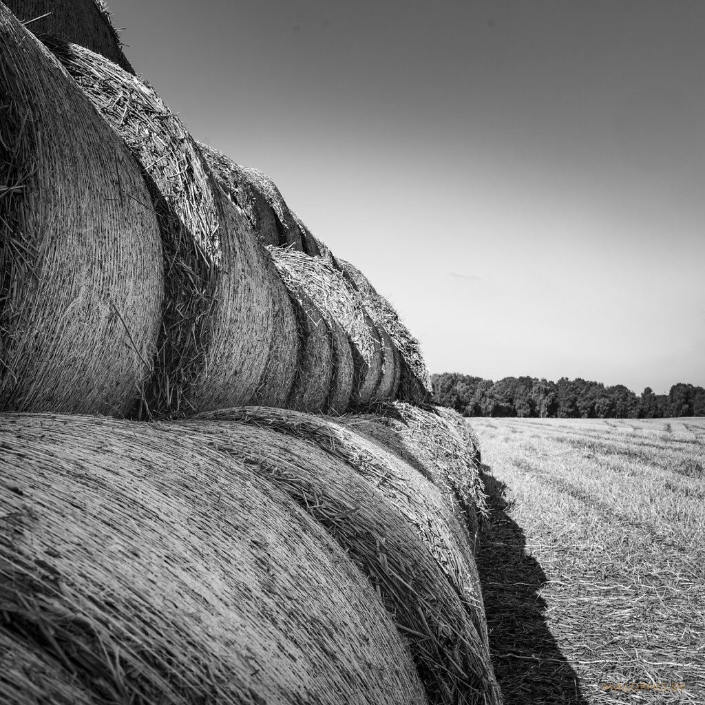
[[[398,397],[415,404],[427,403],[433,394],[431,376],[421,354],[419,341],[402,323],[391,303],[379,295],[357,267],[338,260],[345,274],[364,295],[366,307],[374,311],[374,320],[389,334],[401,358]]]

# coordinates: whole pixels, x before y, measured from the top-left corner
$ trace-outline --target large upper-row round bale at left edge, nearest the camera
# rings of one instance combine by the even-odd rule
[[[152,373],[164,269],[123,142],[0,4],[0,410],[125,415]]]

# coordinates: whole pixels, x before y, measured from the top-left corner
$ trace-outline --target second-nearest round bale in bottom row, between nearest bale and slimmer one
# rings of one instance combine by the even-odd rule
[[[405,516],[336,450],[280,434],[269,428],[266,410],[262,416],[174,425],[212,435],[223,456],[249,460],[338,541],[407,639],[429,703],[501,703],[486,642]]]

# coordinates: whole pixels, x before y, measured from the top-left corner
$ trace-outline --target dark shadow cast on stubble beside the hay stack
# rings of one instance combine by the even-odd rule
[[[547,578],[525,551],[521,527],[508,515],[506,485],[482,465],[490,510],[477,550],[489,646],[505,705],[587,705],[577,675],[546,625],[539,596]]]

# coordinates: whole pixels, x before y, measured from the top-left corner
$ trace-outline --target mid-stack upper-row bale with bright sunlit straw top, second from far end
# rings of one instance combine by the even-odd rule
[[[364,403],[372,399],[381,376],[381,343],[355,288],[321,257],[277,247],[269,251],[287,288],[308,295],[329,325],[333,321],[341,325],[353,355],[353,400]]]

